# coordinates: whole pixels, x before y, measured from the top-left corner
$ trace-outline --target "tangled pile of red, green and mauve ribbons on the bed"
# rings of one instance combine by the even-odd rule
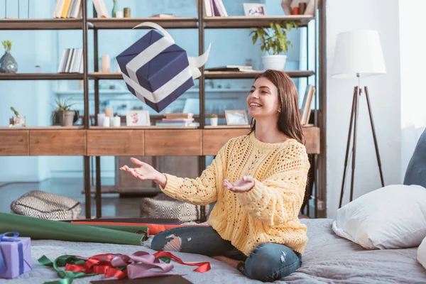
[[[151,255],[146,251],[136,251],[131,256],[124,254],[104,253],[90,258],[82,256],[60,256],[55,261],[50,261],[42,256],[38,261],[44,266],[53,266],[61,280],[45,282],[44,284],[70,284],[74,278],[82,278],[98,274],[104,274],[105,278],[146,278],[163,275],[183,275],[180,273],[168,273],[173,269],[170,259],[187,266],[198,266],[195,271],[204,273],[210,270],[210,263],[185,263],[172,253],[159,251]],[[65,266],[65,271],[60,269]],[[150,271],[151,268],[160,268],[163,273]],[[166,274],[167,273],[167,274]]]

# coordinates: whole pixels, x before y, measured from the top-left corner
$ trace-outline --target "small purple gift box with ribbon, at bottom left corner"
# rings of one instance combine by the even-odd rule
[[[31,238],[18,235],[17,232],[0,234],[0,278],[16,278],[33,269]]]

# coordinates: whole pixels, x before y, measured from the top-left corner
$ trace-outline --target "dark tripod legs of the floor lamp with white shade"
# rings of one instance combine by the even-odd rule
[[[370,122],[371,122],[371,130],[373,131],[373,140],[374,140],[374,146],[376,148],[376,156],[377,156],[377,163],[378,163],[378,170],[380,172],[380,179],[381,179],[381,185],[384,187],[383,182],[383,173],[381,170],[381,161],[380,161],[380,155],[378,153],[378,146],[377,146],[377,138],[376,138],[376,130],[374,129],[374,123],[373,123],[373,115],[371,114],[371,106],[370,106],[370,99],[368,97],[368,90],[367,87],[361,88],[361,87],[354,87],[354,99],[352,101],[352,111],[351,111],[351,122],[349,124],[349,134],[348,134],[348,143],[346,146],[346,157],[344,159],[344,171],[343,171],[343,181],[342,181],[342,191],[340,192],[340,202],[339,202],[339,208],[342,207],[342,200],[343,200],[343,191],[344,191],[344,182],[346,178],[346,168],[348,165],[348,157],[349,157],[349,146],[351,144],[351,133],[352,133],[352,125],[354,125],[354,136],[353,136],[353,157],[352,157],[352,173],[351,173],[351,196],[350,201],[352,201],[352,197],[354,195],[354,175],[355,175],[355,156],[356,156],[356,126],[358,123],[358,109],[359,109],[359,97],[361,97],[361,94],[366,94],[366,100],[367,100],[367,106],[368,106],[368,114],[370,115]]]

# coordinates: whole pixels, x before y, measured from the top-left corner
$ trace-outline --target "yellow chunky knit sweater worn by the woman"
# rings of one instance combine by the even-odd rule
[[[200,178],[165,174],[167,185],[160,188],[182,202],[217,201],[207,223],[246,256],[263,243],[284,244],[303,253],[307,228],[297,216],[309,168],[301,143],[264,143],[252,132],[231,138]],[[232,183],[244,175],[254,178],[249,192],[234,193],[223,186],[224,179]]]

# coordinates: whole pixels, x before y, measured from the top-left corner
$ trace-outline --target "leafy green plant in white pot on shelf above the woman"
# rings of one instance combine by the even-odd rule
[[[271,28],[256,28],[251,31],[253,45],[258,40],[261,42],[261,50],[268,55],[262,56],[263,67],[265,70],[284,70],[285,60],[289,46],[293,48],[293,43],[288,40],[287,32],[299,26],[299,21],[285,21],[271,23]]]

